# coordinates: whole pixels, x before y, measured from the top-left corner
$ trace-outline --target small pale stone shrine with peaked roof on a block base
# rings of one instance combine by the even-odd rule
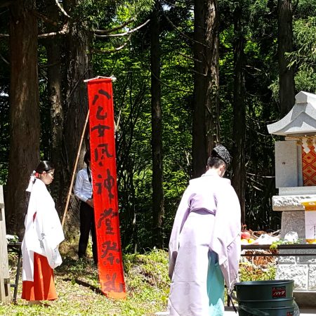
[[[272,197],[272,209],[282,211],[281,238],[288,232],[297,232],[301,243],[306,244],[307,223],[301,202],[316,201],[316,95],[301,91],[295,98],[292,110],[268,125],[270,134],[285,138],[275,142],[275,184],[279,195]],[[306,256],[280,256],[276,278],[294,279],[298,305],[316,306],[316,249],[291,250],[291,254]]]

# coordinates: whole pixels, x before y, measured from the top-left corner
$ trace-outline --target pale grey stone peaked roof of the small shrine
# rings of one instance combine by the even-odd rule
[[[296,94],[295,100],[294,107],[283,119],[267,126],[270,134],[316,133],[316,95],[301,91]]]

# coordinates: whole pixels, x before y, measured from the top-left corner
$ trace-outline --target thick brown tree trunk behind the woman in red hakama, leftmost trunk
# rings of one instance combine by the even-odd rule
[[[10,7],[10,153],[6,196],[9,234],[22,237],[27,205],[25,189],[39,164],[39,84],[37,18],[34,1],[18,0]]]

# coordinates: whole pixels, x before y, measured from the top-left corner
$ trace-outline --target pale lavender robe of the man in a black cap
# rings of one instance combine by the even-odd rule
[[[240,205],[230,180],[213,169],[190,180],[169,242],[170,315],[223,315],[211,311],[209,292],[216,289],[209,287],[220,282],[223,287],[225,280],[230,292],[237,282],[240,231]]]

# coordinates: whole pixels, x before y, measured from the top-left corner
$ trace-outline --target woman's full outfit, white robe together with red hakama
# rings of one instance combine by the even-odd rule
[[[53,269],[62,263],[58,245],[65,239],[46,185],[35,180],[25,218],[22,241],[22,298],[46,301],[57,298]]]

